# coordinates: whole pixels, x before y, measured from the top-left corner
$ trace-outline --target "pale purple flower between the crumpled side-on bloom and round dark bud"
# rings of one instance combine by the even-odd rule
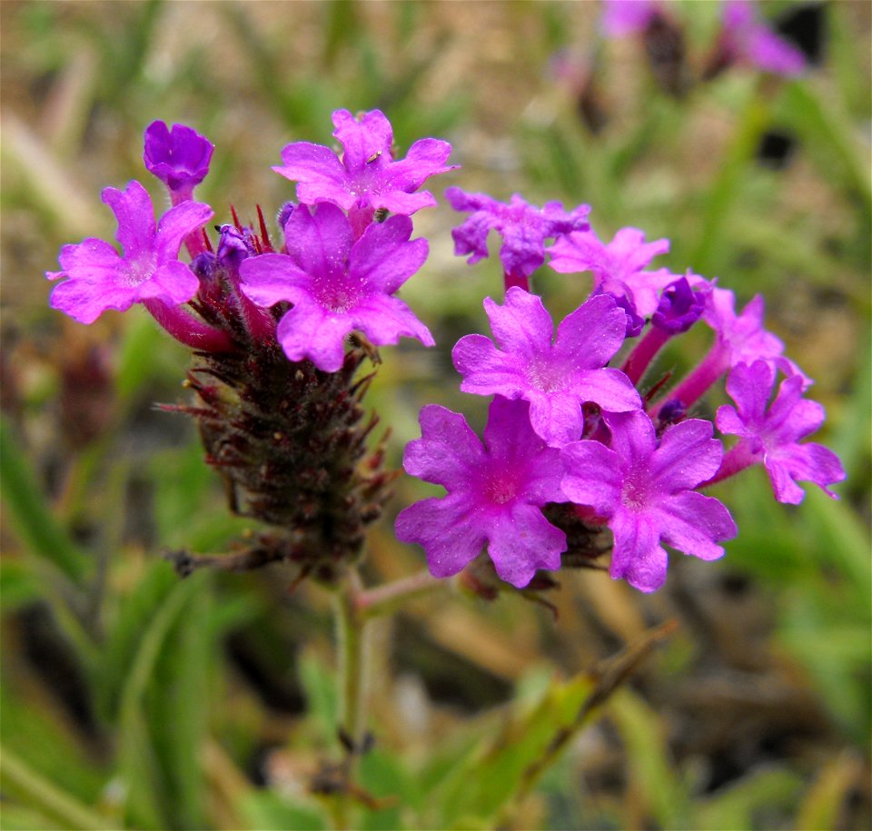
[[[626,298],[642,317],[657,309],[659,291],[677,279],[667,269],[644,270],[654,257],[668,251],[669,240],[645,242],[645,233],[638,228],[621,228],[608,243],[600,242],[592,231],[573,232],[548,249],[555,272],[592,272],[593,293]]]

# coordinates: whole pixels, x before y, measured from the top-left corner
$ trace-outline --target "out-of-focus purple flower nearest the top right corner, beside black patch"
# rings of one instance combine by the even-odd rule
[[[750,64],[779,75],[801,74],[806,59],[794,45],[758,21],[749,0],[727,0],[718,41],[719,60],[725,64]]]

